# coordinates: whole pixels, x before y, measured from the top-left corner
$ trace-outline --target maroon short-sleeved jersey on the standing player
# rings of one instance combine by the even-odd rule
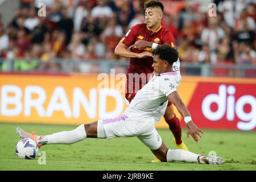
[[[160,27],[155,32],[152,32],[148,29],[146,23],[136,24],[131,27],[131,29],[126,33],[125,37],[121,39],[121,43],[125,44],[127,47],[133,45],[137,40],[146,40],[148,42],[157,43],[157,44],[170,44],[170,46],[174,47],[174,36],[171,31],[165,27]],[[152,48],[146,48],[144,50],[139,49],[131,49],[130,51],[141,53],[144,51],[152,52]],[[130,65],[127,69],[127,75],[129,73],[152,73],[153,68],[153,58],[145,57],[145,58],[130,58]]]

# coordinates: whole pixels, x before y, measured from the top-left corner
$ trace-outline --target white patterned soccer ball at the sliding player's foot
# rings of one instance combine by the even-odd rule
[[[35,159],[38,151],[38,145],[30,138],[23,138],[16,145],[16,155],[20,159]]]

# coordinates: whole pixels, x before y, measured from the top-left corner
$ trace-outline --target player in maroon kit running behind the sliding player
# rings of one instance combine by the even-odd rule
[[[126,99],[131,102],[135,94],[148,82],[153,69],[152,50],[158,44],[169,44],[174,47],[175,40],[170,30],[161,26],[164,6],[161,2],[150,0],[144,4],[146,23],[136,24],[126,33],[115,48],[115,55],[130,57],[130,65],[126,73]],[[139,78],[134,81],[134,75]],[[136,84],[139,82],[139,88]],[[169,102],[164,119],[174,135],[177,148],[187,150],[181,139],[180,121],[174,113],[174,107]],[[159,162],[158,159],[152,162]]]

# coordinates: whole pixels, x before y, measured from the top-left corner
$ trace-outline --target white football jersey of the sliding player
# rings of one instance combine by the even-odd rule
[[[139,90],[123,114],[139,122],[158,122],[167,107],[167,96],[177,90],[180,74],[176,72],[161,73]]]

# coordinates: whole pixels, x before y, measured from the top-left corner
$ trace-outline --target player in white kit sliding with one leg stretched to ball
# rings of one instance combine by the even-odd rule
[[[161,45],[154,49],[155,75],[139,90],[127,107],[123,115],[112,119],[100,119],[96,122],[83,124],[75,130],[62,131],[51,135],[35,135],[33,132],[17,128],[20,138],[32,138],[39,147],[45,144],[71,144],[85,138],[108,138],[137,137],[144,143],[153,154],[162,162],[197,162],[202,164],[222,164],[224,160],[217,156],[202,156],[184,150],[170,150],[166,147],[162,138],[155,129],[155,122],[163,117],[170,100],[179,110],[187,123],[187,137],[189,135],[198,141],[201,137],[200,130],[192,121],[187,107],[181,101],[177,93],[180,75],[174,72],[172,64],[178,58],[176,49]],[[201,137],[202,138],[202,137]]]

